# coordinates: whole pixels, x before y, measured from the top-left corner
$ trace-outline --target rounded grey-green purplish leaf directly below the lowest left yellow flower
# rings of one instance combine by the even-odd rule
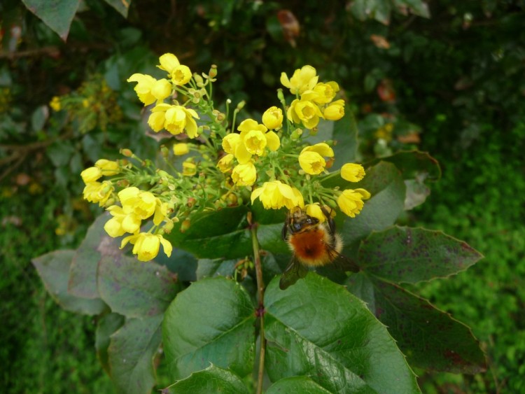
[[[181,285],[165,266],[120,255],[100,260],[98,288],[111,311],[132,318],[162,314]]]

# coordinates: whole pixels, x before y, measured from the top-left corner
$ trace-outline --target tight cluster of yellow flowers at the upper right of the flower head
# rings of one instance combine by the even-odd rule
[[[295,70],[292,78],[281,73],[281,83],[297,97],[286,112],[292,122],[314,129],[321,118],[339,120],[344,116],[344,100],[332,101],[339,92],[339,85],[333,81],[318,82],[314,67],[303,66]]]

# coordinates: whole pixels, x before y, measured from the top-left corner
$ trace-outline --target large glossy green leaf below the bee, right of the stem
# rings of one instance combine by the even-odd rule
[[[309,273],[265,293],[265,366],[272,381],[306,376],[330,393],[419,393],[386,327],[343,286]]]

